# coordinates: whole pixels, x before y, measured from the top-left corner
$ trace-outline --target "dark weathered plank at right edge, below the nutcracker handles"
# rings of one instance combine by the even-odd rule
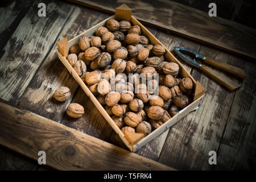
[[[247,77],[234,97],[214,170],[256,168],[256,65],[246,61],[244,69]]]

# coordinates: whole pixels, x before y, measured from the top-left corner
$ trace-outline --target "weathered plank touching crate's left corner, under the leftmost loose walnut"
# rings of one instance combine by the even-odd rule
[[[72,39],[108,16],[86,7],[76,7],[67,23],[65,23],[57,41],[65,36],[68,36],[68,39]],[[19,105],[23,109],[60,122],[65,114],[67,105],[72,101],[79,86],[57,57],[56,42],[54,45],[28,85]],[[60,86],[68,86],[71,89],[72,96],[66,102],[57,102],[52,98],[53,93]]]

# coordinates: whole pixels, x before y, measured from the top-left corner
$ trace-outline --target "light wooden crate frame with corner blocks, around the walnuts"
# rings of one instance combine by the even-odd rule
[[[201,100],[204,97],[204,88],[198,81],[197,82],[195,81],[195,79],[185,70],[183,65],[180,64],[180,62],[174,57],[174,55],[172,55],[172,53],[170,51],[168,51],[168,49],[166,47],[163,46],[164,48],[166,48],[166,53],[164,54],[164,57],[166,58],[166,60],[175,62],[179,65],[180,75],[182,77],[190,77],[192,79],[193,86],[195,88],[195,94],[194,94],[193,102],[191,104],[189,104],[187,107],[185,107],[183,110],[179,111],[178,114],[176,114],[174,117],[169,119],[162,126],[158,127],[158,129],[152,131],[152,133],[150,133],[146,137],[142,137],[142,135],[140,135],[140,134],[138,134],[138,135],[135,134],[133,136],[134,137],[133,139],[126,138],[125,134],[123,134],[122,131],[119,129],[119,127],[117,125],[115,125],[113,119],[109,116],[109,114],[106,112],[104,107],[102,107],[100,102],[98,102],[96,97],[94,97],[92,92],[90,92],[89,88],[81,80],[79,75],[77,75],[75,70],[72,68],[72,66],[68,63],[68,60],[66,59],[66,57],[68,55],[69,48],[71,46],[73,46],[73,44],[77,44],[78,40],[81,36],[92,36],[94,34],[94,32],[97,30],[98,27],[105,26],[106,21],[108,19],[111,19],[111,18],[117,19],[117,20],[121,20],[121,19],[128,20],[131,23],[133,23],[134,25],[140,26],[142,35],[147,36],[147,38],[150,40],[151,44],[160,44],[160,45],[163,46],[163,44],[160,43],[159,40],[156,39],[155,36],[152,35],[150,31],[147,30],[147,28],[145,28],[137,19],[135,19],[131,15],[131,10],[129,9],[129,7],[127,7],[124,4],[124,5],[121,5],[121,6],[117,7],[117,9],[115,9],[115,15],[110,16],[109,18],[107,18],[107,19],[103,20],[102,22],[96,24],[96,26],[93,26],[92,28],[89,28],[89,30],[86,30],[85,32],[76,36],[75,38],[73,38],[69,41],[67,40],[67,38],[64,38],[64,39],[60,40],[57,43],[57,46],[58,46],[57,54],[58,54],[59,59],[61,60],[61,62],[68,69],[69,73],[71,73],[71,75],[75,78],[77,83],[81,86],[82,90],[84,90],[86,95],[90,98],[90,100],[93,102],[93,104],[97,107],[97,109],[100,111],[100,113],[104,116],[106,121],[108,121],[109,125],[112,126],[113,130],[118,134],[118,136],[121,138],[123,143],[125,143],[125,145],[127,146],[127,148],[129,148],[130,151],[134,152],[134,151],[137,151],[142,146],[144,146],[146,143],[150,142],[152,139],[154,139],[159,134],[166,131],[169,127],[174,125],[177,121],[179,121],[181,118],[183,118],[189,112],[191,112],[192,110],[197,109]],[[87,110],[86,112],[87,112],[87,114],[91,114],[90,110]]]

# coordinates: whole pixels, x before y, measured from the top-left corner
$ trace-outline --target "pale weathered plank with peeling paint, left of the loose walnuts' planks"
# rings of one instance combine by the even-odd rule
[[[46,17],[38,16],[40,1],[33,3],[4,48],[0,97],[13,104],[18,103],[74,9],[68,3],[47,2]]]

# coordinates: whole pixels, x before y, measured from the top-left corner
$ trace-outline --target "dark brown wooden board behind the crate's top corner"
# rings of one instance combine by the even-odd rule
[[[160,1],[88,1],[69,0],[105,13],[114,14],[115,7],[126,3],[133,15],[146,25],[161,28],[204,44],[256,59],[256,30],[220,17],[209,17],[192,7],[176,2]]]

